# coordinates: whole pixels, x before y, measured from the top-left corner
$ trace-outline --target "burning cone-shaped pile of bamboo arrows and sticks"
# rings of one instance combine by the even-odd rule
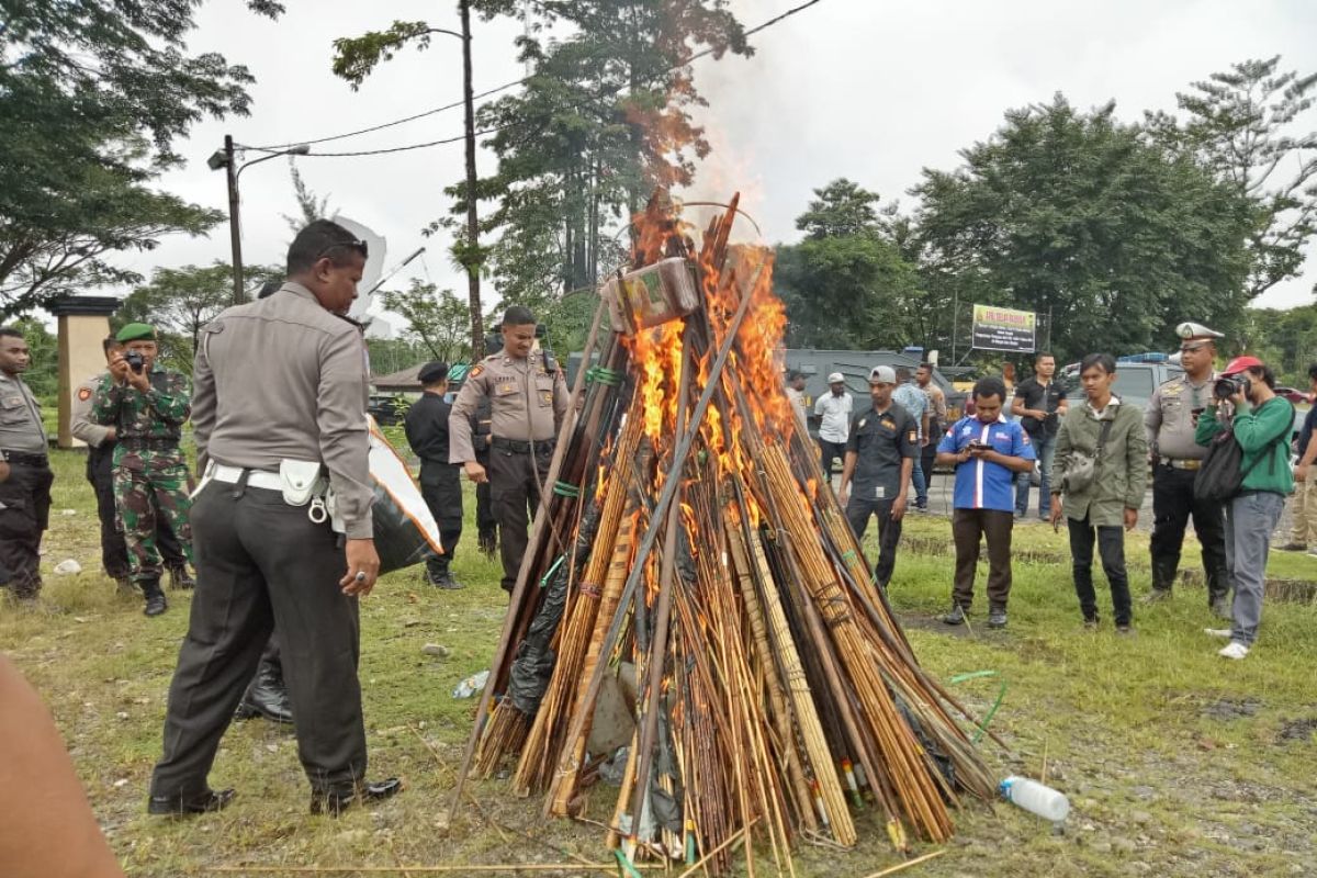
[[[752,870],[757,842],[793,871],[793,840],[849,846],[861,812],[898,850],[943,841],[993,781],[792,411],[772,253],[728,245],[735,216],[698,249],[661,196],[636,220],[632,270],[687,259],[699,307],[632,332],[595,315],[457,795],[507,765],[519,795],[581,817],[615,760],[616,804],[602,787],[593,816],[619,861],[714,873],[741,841]],[[590,753],[620,669],[630,748]]]

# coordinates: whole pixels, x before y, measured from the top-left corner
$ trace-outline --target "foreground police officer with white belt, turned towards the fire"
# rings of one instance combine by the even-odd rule
[[[203,471],[192,507],[198,587],[151,813],[216,811],[233,798],[211,790],[207,775],[275,625],[311,812],[337,815],[402,788],[396,778],[365,782],[357,679],[357,598],[374,587],[379,555],[366,361],[361,334],[336,313],[356,297],[365,258],[363,242],[317,220],[288,247],[279,292],[202,330],[192,398]]]

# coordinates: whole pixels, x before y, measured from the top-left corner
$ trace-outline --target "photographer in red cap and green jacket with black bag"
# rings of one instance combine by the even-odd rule
[[[1229,629],[1209,628],[1230,637],[1220,654],[1239,659],[1249,654],[1262,621],[1262,590],[1271,532],[1280,521],[1285,498],[1295,490],[1289,471],[1293,404],[1275,392],[1276,374],[1256,357],[1235,357],[1212,387],[1212,403],[1198,419],[1198,445],[1238,442],[1241,491],[1226,503],[1226,563],[1234,577]],[[1233,440],[1218,434],[1229,430]],[[1204,470],[1205,473],[1206,470]]]

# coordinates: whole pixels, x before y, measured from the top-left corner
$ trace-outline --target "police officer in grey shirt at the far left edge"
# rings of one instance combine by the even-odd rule
[[[50,484],[41,405],[22,383],[32,365],[17,329],[0,326],[0,458],[8,478],[0,482],[0,588],[20,600],[41,591],[41,534],[50,524]]]

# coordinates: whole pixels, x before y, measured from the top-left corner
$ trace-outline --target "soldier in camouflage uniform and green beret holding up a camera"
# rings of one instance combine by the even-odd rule
[[[124,524],[133,582],[146,598],[145,613],[169,608],[161,590],[155,521],[163,516],[192,561],[188,496],[192,478],[178,448],[191,413],[187,378],[155,363],[155,330],[128,324],[116,338],[125,351],[109,359],[109,375],[92,394],[91,420],[116,428],[115,503]],[[141,358],[140,365],[132,361]]]

